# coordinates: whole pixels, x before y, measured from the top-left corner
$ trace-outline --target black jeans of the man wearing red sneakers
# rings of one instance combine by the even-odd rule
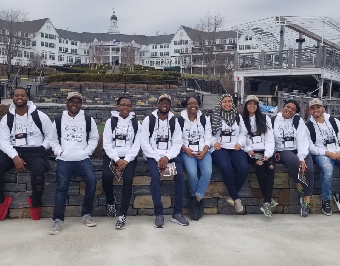
[[[32,207],[40,207],[45,186],[45,173],[50,169],[45,149],[41,146],[14,148],[18,152],[19,157],[27,163],[24,166],[27,166],[31,171]],[[13,167],[13,160],[0,150],[0,202],[5,200],[2,176]]]

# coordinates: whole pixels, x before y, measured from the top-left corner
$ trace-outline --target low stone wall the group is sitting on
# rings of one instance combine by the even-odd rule
[[[46,173],[46,184],[43,195],[43,207],[41,208],[41,217],[52,217],[54,206],[54,195],[56,192],[56,162],[50,161],[51,169]],[[97,176],[97,189],[94,201],[93,216],[106,215],[106,199],[103,195],[101,182],[102,160],[93,160],[95,173]],[[320,203],[320,170],[314,165],[315,185],[313,190],[314,198],[311,201],[311,212],[321,213]],[[234,207],[230,206],[225,198],[228,196],[225,186],[222,182],[221,173],[213,165],[211,181],[203,199],[205,203],[206,214],[237,214]],[[334,168],[332,180],[332,191],[340,191],[340,168]],[[186,176],[186,173],[185,173]],[[31,194],[31,174],[29,171],[18,172],[12,169],[3,175],[4,191],[7,196],[13,197],[10,206],[11,218],[30,217],[30,208],[26,201]],[[187,178],[186,178],[187,179]],[[72,177],[68,197],[66,201],[65,217],[77,217],[81,213],[81,205],[84,198],[85,184],[78,175]],[[162,177],[162,202],[164,205],[164,214],[172,214],[174,206],[174,181],[172,177]],[[114,180],[114,194],[116,196],[117,209],[120,208],[122,193],[122,180]],[[245,206],[241,214],[262,213],[263,199],[259,184],[256,179],[255,169],[250,165],[249,175],[245,181],[240,193],[240,199]],[[274,213],[300,213],[301,206],[299,199],[301,195],[296,189],[294,181],[289,178],[287,168],[282,164],[275,167],[275,184],[273,198],[278,201],[279,205],[273,210]],[[184,208],[183,213],[188,214],[187,204],[190,200],[188,182],[185,181],[184,191]],[[333,212],[338,212],[333,197],[331,198]],[[150,172],[148,171],[147,162],[143,158],[138,158],[135,178],[133,181],[133,195],[129,205],[128,215],[153,215],[153,202],[150,191]]]

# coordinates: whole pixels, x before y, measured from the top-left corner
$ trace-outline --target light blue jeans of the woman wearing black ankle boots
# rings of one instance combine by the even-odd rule
[[[212,159],[210,152],[208,151],[201,160],[197,159],[195,156],[190,157],[185,152],[180,152],[180,156],[185,170],[188,173],[188,184],[191,196],[197,196],[202,199],[211,178]],[[198,179],[197,175],[197,166],[201,171],[200,179]]]

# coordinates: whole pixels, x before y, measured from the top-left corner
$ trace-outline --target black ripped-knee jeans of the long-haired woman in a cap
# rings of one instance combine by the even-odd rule
[[[256,151],[255,153],[264,154],[264,151]],[[254,165],[256,169],[257,181],[260,185],[260,189],[263,196],[263,202],[270,202],[274,187],[274,177],[275,177],[275,157],[272,156],[268,158],[268,161],[264,162],[261,160],[256,160],[248,155],[248,161],[250,164]]]

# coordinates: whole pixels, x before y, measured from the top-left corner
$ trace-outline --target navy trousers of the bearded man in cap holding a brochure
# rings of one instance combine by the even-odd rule
[[[162,204],[162,195],[160,192],[160,175],[157,166],[157,162],[153,158],[147,158],[149,171],[151,173],[151,195],[152,201],[154,205],[155,215],[163,215],[163,204]],[[173,214],[182,214],[183,209],[183,197],[184,197],[184,174],[183,174],[183,165],[182,159],[179,155],[177,157],[169,160],[170,162],[174,162],[176,165],[177,175],[174,175],[175,180],[175,206],[173,210]]]

